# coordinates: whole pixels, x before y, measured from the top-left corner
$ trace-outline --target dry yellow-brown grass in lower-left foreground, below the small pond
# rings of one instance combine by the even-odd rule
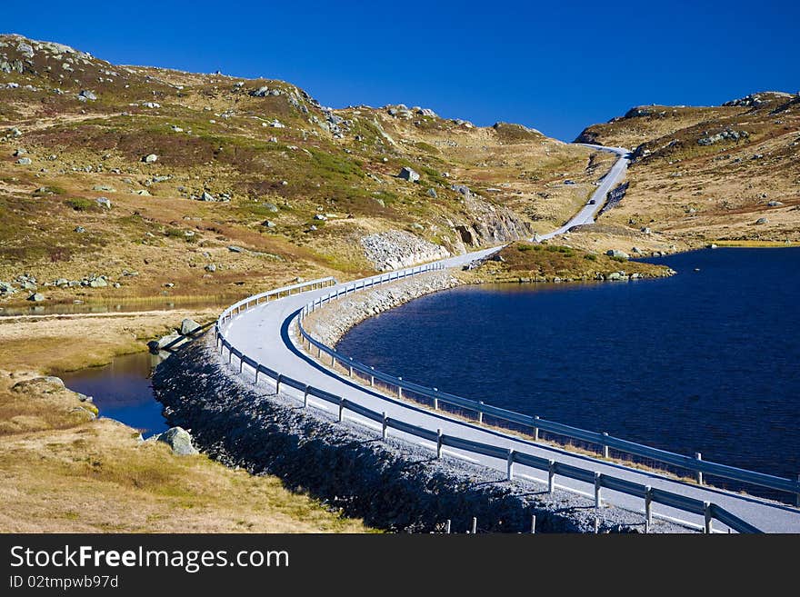
[[[0,532],[365,532],[280,480],[92,420],[75,393],[0,373]]]

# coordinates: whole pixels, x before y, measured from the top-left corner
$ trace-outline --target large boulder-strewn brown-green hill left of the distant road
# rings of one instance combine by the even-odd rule
[[[283,81],[0,35],[0,295],[222,298],[355,276],[408,247],[404,264],[552,229],[611,161],[520,125],[331,109]]]

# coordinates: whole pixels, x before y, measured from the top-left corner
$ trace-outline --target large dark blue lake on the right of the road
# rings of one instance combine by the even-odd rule
[[[800,249],[649,261],[678,274],[461,287],[357,325],[338,349],[467,398],[794,478]]]

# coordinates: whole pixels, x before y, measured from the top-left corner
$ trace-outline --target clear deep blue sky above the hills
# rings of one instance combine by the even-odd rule
[[[5,33],[117,64],[284,79],[334,107],[421,105],[568,141],[636,104],[800,91],[797,0],[37,0],[2,13]]]

